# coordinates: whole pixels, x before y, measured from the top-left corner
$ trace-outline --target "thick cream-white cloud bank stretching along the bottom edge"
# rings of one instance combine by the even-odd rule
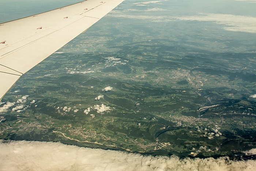
[[[179,159],[91,149],[53,142],[0,142],[0,170],[255,170],[256,161]]]

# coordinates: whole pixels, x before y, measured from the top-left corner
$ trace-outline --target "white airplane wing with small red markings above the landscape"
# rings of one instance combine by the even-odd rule
[[[123,0],[86,0],[0,24],[0,100],[24,73]]]

